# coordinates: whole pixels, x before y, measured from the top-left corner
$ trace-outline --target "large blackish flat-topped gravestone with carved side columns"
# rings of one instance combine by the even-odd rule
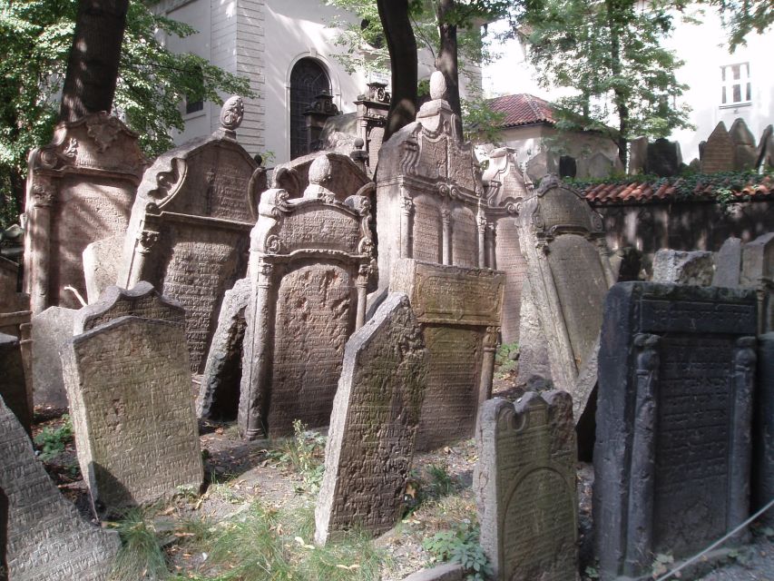
[[[692,556],[748,516],[755,330],[754,291],[622,282],[608,294],[593,489],[603,579]]]

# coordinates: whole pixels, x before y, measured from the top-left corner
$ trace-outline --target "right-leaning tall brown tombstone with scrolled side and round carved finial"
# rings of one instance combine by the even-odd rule
[[[244,106],[231,97],[220,129],[162,154],[145,172],[123,241],[118,286],[149,281],[181,302],[191,371],[201,373],[223,293],[247,271],[262,170],[236,141]]]

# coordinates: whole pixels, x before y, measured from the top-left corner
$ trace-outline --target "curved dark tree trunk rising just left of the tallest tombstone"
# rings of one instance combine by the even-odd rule
[[[408,0],[377,0],[379,19],[387,37],[392,101],[384,141],[416,118],[416,38],[408,17]]]

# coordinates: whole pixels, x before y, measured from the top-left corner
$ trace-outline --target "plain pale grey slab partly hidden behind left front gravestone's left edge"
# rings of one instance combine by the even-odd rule
[[[62,360],[64,343],[73,338],[74,309],[49,307],[32,318],[34,405],[67,408]]]

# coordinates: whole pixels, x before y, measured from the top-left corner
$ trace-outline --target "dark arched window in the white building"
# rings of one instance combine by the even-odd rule
[[[304,112],[323,91],[330,92],[325,69],[313,58],[302,58],[290,72],[290,159],[309,153]]]

